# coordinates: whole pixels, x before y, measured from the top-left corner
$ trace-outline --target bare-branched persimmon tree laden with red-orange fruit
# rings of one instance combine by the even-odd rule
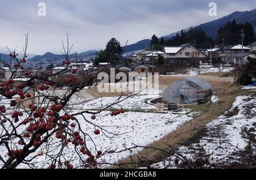
[[[104,155],[104,149],[98,149],[94,143],[93,147],[88,147],[86,141],[93,142],[92,132],[95,135],[112,132],[96,125],[94,120],[106,109],[111,109],[112,113],[108,115],[112,116],[125,113],[121,107],[120,109],[112,107],[131,95],[117,98],[112,104],[97,111],[72,110],[70,103],[72,98],[86,86],[90,86],[91,82],[97,79],[97,74],[105,69],[98,70],[97,74],[88,72],[86,78],[78,83],[77,77],[74,76],[77,71],[72,68],[69,61],[72,46],[69,47],[68,36],[67,45],[64,46],[63,42],[62,44],[66,67],[56,74],[32,74],[26,70],[28,34],[22,51],[23,58],[18,59],[19,53],[10,51],[10,62],[1,61],[2,65],[11,71],[10,78],[0,82],[0,150],[2,151],[0,167],[2,169],[19,168],[21,164],[29,168],[38,168],[38,164],[42,162],[38,162],[37,159],[43,155],[47,164],[44,168],[47,166],[49,169],[97,168],[101,156]],[[112,61],[113,56],[114,52],[109,62]],[[24,71],[27,80],[16,84],[15,74],[20,70]],[[64,72],[68,74],[69,82],[73,84],[61,95],[57,95],[52,88],[56,83],[52,77]],[[120,96],[123,94],[121,93]],[[92,132],[84,131],[81,123],[93,125]],[[72,156],[67,156],[66,149],[72,149]],[[79,165],[73,165],[73,161],[78,161]]]

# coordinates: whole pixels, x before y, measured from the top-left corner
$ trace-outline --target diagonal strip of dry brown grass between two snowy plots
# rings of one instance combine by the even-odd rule
[[[218,116],[229,110],[236,96],[243,95],[247,92],[248,91],[246,90],[241,90],[236,85],[225,85],[224,88],[218,92],[218,97],[220,98],[219,102],[221,103],[211,104],[207,112],[201,113],[199,116],[193,119],[193,121],[185,123],[177,130],[172,131],[164,138],[149,144],[147,147],[160,148],[168,151],[169,146],[175,148],[189,142],[189,139],[192,139],[197,134],[199,134],[199,132],[204,129],[207,123],[213,121]],[[164,155],[163,152],[144,148],[136,155],[120,160],[118,163],[119,165],[121,164],[121,166],[117,167],[139,168],[137,164],[130,164],[130,162],[141,162],[141,160],[143,160],[144,164],[151,164],[152,162],[156,163],[162,161],[165,156],[166,155]]]

